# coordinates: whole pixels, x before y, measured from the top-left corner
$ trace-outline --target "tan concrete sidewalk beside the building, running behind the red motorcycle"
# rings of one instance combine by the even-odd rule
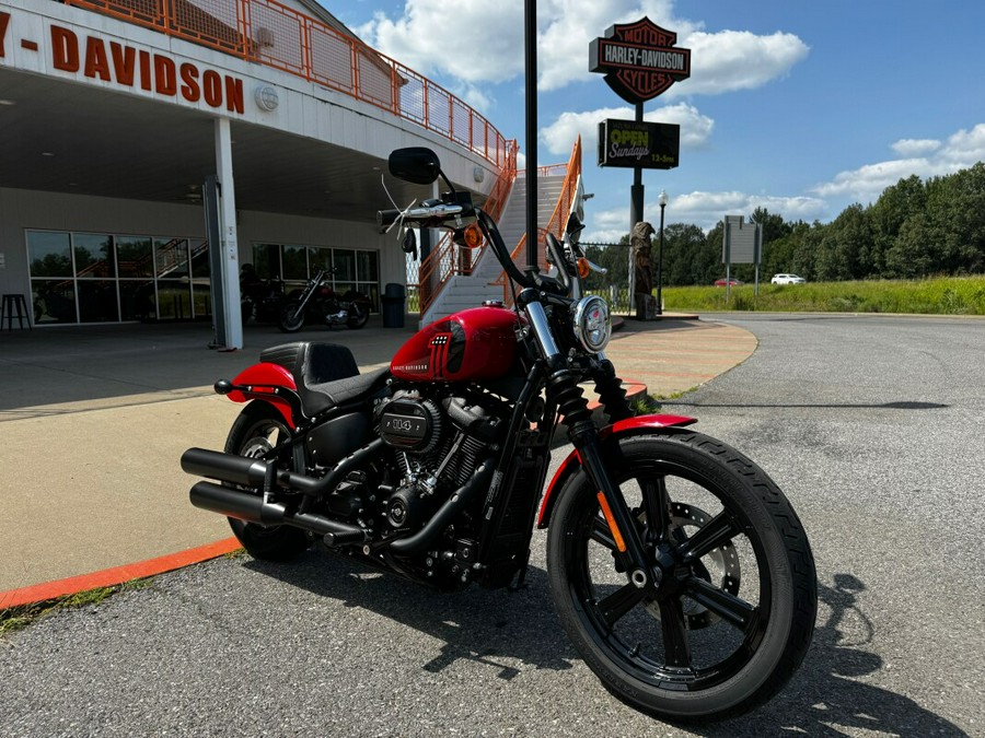
[[[208,325],[0,332],[0,609],[11,590],[223,541],[224,518],[188,502],[189,446],[221,448],[242,406],[215,395],[259,352],[291,340],[348,345],[387,365],[414,329],[247,326],[246,349],[208,349]],[[744,361],[748,331],[696,319],[626,320],[606,354],[624,379],[670,396]],[[7,593],[7,602],[3,601]]]

